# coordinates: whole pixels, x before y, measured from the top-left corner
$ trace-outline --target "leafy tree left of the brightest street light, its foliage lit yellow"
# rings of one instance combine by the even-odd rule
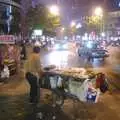
[[[54,31],[56,27],[60,25],[60,18],[51,15],[45,6],[39,4],[35,8],[30,7],[28,9],[26,14],[26,24],[30,34],[35,28]]]

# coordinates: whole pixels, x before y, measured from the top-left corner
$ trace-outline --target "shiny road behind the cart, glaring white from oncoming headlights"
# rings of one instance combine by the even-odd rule
[[[105,60],[95,59],[89,62],[78,56],[77,48],[71,47],[66,50],[41,51],[41,62],[44,66],[56,65],[61,68],[69,67],[89,67],[89,68],[106,68],[120,72],[120,48],[108,47],[110,56]]]

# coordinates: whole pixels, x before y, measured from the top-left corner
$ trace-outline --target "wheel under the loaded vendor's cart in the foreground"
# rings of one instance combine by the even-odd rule
[[[58,106],[62,107],[64,104],[64,97],[55,92],[52,92],[52,103],[55,106],[58,105]]]

